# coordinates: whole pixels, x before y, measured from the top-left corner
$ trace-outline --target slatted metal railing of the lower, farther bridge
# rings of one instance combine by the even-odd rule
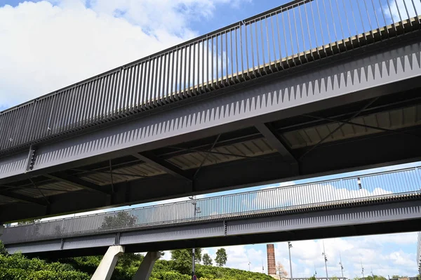
[[[421,196],[421,171],[409,168],[359,177],[325,180],[288,187],[262,189],[125,211],[18,225],[5,229],[5,244],[66,236],[176,226],[190,222],[282,215],[299,211],[373,204]]]

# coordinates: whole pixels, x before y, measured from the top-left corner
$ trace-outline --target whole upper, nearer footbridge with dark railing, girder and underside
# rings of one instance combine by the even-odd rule
[[[420,15],[295,0],[6,109],[0,222],[419,160]]]

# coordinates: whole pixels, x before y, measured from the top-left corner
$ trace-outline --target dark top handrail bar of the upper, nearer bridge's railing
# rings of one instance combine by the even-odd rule
[[[215,30],[213,32],[209,32],[207,34],[203,34],[201,36],[197,36],[196,38],[193,38],[193,39],[190,39],[188,41],[185,41],[182,44],[171,46],[170,48],[166,48],[166,49],[163,49],[162,51],[159,51],[157,53],[153,53],[151,55],[147,55],[146,57],[140,58],[140,59],[135,60],[133,62],[128,62],[125,65],[121,65],[119,67],[115,67],[114,69],[107,70],[106,72],[102,72],[101,74],[97,74],[95,76],[91,76],[88,79],[84,79],[82,81],[78,81],[78,82],[76,82],[74,84],[71,84],[69,86],[65,86],[65,87],[60,88],[60,89],[58,89],[56,91],[52,91],[51,93],[46,93],[45,95],[41,95],[38,98],[34,98],[32,100],[28,100],[26,102],[23,102],[23,103],[21,103],[19,105],[15,105],[15,106],[10,107],[8,109],[4,109],[3,111],[0,111],[0,116],[1,116],[1,114],[6,114],[7,112],[11,112],[11,111],[13,111],[15,109],[19,109],[20,107],[24,107],[26,105],[29,105],[30,103],[36,102],[37,100],[48,98],[48,97],[50,97],[50,96],[52,96],[52,95],[54,95],[56,93],[65,91],[65,90],[67,90],[69,88],[73,88],[74,86],[79,86],[80,84],[85,84],[88,81],[92,81],[92,80],[98,79],[101,76],[105,76],[107,74],[112,74],[114,72],[118,72],[120,69],[124,69],[126,67],[130,67],[132,65],[138,64],[140,62],[144,62],[146,60],[149,60],[151,58],[155,58],[156,56],[163,55],[165,53],[169,53],[171,51],[177,51],[178,48],[184,48],[185,46],[188,46],[189,44],[195,43],[196,41],[200,41],[202,39],[207,39],[207,38],[213,37],[213,36],[218,36],[218,34],[224,32],[224,31],[227,31],[227,29],[239,28],[240,25],[249,25],[250,23],[253,23],[255,21],[261,20],[261,18],[263,18],[263,17],[265,17],[267,15],[269,15],[269,16],[270,15],[276,15],[276,14],[281,13],[283,11],[287,11],[290,8],[295,8],[295,6],[300,6],[302,4],[307,4],[307,3],[312,2],[312,1],[314,1],[314,0],[293,0],[293,1],[290,1],[290,2],[288,2],[286,4],[281,5],[281,6],[277,6],[275,8],[272,8],[272,9],[268,10],[268,11],[259,13],[258,15],[253,15],[250,18],[246,18],[245,20],[240,20],[238,22],[232,23],[231,25],[227,25],[225,27],[222,27],[220,29],[217,29],[217,30]]]

